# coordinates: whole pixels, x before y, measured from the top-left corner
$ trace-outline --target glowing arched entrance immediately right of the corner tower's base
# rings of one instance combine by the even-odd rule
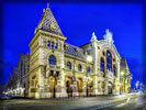
[[[67,77],[66,78],[66,88],[67,88],[68,97],[72,97],[71,82],[72,82],[72,78],[71,77]]]

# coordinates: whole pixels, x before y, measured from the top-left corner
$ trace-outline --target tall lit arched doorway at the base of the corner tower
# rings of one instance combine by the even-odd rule
[[[55,77],[49,76],[49,90],[50,90],[50,97],[55,98]]]

